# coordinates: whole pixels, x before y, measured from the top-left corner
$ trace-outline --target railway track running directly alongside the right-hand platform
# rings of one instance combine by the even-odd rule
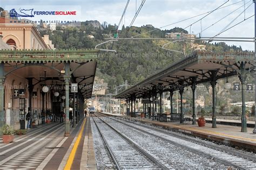
[[[106,115],[104,116],[106,117]],[[256,158],[253,157],[253,155],[246,155],[237,151],[228,150],[226,148],[205,144],[204,142],[186,138],[177,133],[175,134],[174,132],[170,133],[146,125],[135,124],[132,121],[122,120],[121,118],[118,118],[119,120],[117,120],[117,118],[109,118],[126,126],[132,127],[140,132],[150,134],[154,137],[160,138],[161,140],[165,140],[174,145],[188,149],[191,152],[214,159],[222,164],[233,166],[238,169],[256,169]]]

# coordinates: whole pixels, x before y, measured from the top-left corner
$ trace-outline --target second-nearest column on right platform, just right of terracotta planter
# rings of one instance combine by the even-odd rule
[[[210,70],[211,72],[211,86],[212,86],[212,128],[216,128],[216,100],[215,100],[215,86],[217,84],[217,70]]]

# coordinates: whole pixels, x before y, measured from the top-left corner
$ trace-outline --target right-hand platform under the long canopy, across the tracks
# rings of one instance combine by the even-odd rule
[[[212,124],[206,123],[204,127],[199,127],[198,125],[192,125],[191,121],[185,121],[185,123],[180,124],[179,122],[172,121],[159,122],[148,118],[131,118],[127,115],[114,113],[104,112],[104,114],[112,115],[113,117],[123,117],[128,120],[140,121],[145,124],[163,127],[172,131],[177,131],[180,133],[193,135],[195,137],[200,137],[211,141],[219,142],[224,145],[248,149],[250,151],[256,152],[256,134],[252,133],[253,128],[250,127],[247,127],[247,132],[241,132],[241,127],[239,126],[218,124],[217,128],[212,128]],[[217,121],[221,120],[217,119]],[[225,121],[232,122],[232,120]]]

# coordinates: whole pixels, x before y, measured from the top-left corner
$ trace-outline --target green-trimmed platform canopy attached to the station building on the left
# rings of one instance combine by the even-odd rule
[[[56,85],[65,91],[65,63],[70,65],[70,83],[77,83],[84,99],[91,98],[98,50],[2,50],[4,76],[33,78],[33,85]],[[46,77],[46,79],[44,78]],[[63,88],[61,88],[63,87]]]

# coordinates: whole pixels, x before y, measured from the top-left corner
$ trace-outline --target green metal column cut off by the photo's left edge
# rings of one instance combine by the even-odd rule
[[[4,63],[0,63],[0,128],[4,125],[4,80]]]

